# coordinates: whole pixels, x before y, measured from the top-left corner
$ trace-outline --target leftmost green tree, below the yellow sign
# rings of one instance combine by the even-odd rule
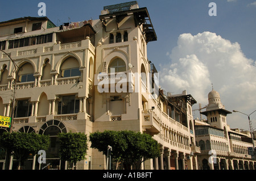
[[[18,170],[20,170],[28,155],[35,155],[39,150],[48,149],[49,137],[36,133],[5,132],[0,136],[0,145],[18,158]]]

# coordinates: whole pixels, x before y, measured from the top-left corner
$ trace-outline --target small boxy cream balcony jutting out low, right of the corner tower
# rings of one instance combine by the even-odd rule
[[[142,113],[142,128],[151,135],[158,134],[160,132],[160,123],[153,116],[152,112]]]

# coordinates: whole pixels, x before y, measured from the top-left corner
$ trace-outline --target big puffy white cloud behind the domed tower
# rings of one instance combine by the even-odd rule
[[[247,114],[256,110],[255,61],[246,58],[238,43],[212,32],[184,33],[167,56],[170,56],[170,63],[160,65],[159,71],[160,85],[164,90],[173,94],[187,90],[197,103],[204,106],[208,104],[213,83],[227,110]],[[246,118],[232,113],[227,120],[231,128],[247,129]]]

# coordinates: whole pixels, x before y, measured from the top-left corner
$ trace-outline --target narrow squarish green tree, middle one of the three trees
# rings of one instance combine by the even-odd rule
[[[77,162],[85,159],[88,150],[87,136],[82,133],[60,133],[60,158],[64,161]]]

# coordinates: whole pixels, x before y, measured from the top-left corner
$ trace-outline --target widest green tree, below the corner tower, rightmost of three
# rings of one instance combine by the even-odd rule
[[[112,158],[123,162],[125,169],[132,165],[138,169],[141,163],[149,158],[159,157],[158,142],[149,134],[133,131],[104,131],[90,134],[91,148],[107,155],[108,145],[112,146]]]

